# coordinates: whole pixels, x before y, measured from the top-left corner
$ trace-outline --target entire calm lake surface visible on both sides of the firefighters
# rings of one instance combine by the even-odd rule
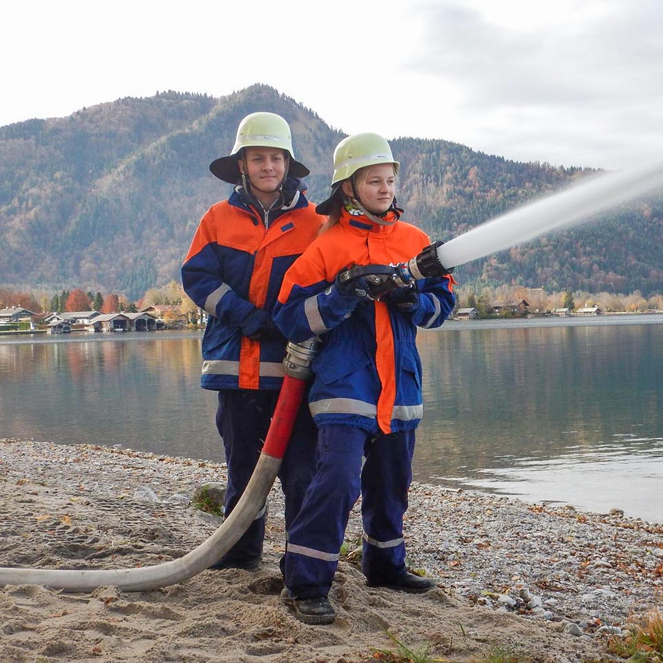
[[[223,460],[202,332],[0,336],[0,436]],[[419,334],[417,481],[663,522],[663,316]]]

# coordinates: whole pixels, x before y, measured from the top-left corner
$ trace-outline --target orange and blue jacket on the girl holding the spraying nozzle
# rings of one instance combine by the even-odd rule
[[[390,265],[414,258],[426,234],[390,213],[377,224],[343,209],[287,271],[274,321],[294,342],[319,336],[309,407],[318,427],[347,425],[374,434],[414,430],[423,414],[416,328],[439,327],[454,307],[452,276],[417,281],[419,307],[403,314],[390,302],[354,309],[334,287],[349,265]]]

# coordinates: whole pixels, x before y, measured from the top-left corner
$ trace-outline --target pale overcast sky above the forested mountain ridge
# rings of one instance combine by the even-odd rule
[[[622,169],[663,151],[662,26],[660,0],[7,0],[0,126],[264,83],[346,133]]]

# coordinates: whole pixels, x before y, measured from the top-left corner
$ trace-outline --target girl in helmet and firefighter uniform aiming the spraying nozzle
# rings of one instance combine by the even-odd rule
[[[290,340],[321,339],[309,392],[317,472],[288,526],[282,595],[308,624],[334,620],[327,595],[360,492],[367,584],[407,592],[434,586],[405,568],[403,515],[423,411],[416,328],[443,323],[454,306],[454,281],[421,278],[373,300],[366,276],[339,278],[350,265],[398,264],[430,245],[423,231],[399,220],[397,173],[379,135],[338,144],[332,193],[317,208],[328,225],[287,271],[274,309]]]

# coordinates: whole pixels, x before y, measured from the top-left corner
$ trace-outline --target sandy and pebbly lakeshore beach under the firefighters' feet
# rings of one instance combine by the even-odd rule
[[[128,568],[181,557],[220,523],[191,508],[193,490],[224,477],[224,465],[204,460],[0,439],[0,566]],[[349,550],[360,535],[355,509]],[[500,648],[523,661],[611,661],[609,634],[661,606],[663,526],[619,510],[416,484],[405,536],[410,565],[435,577],[435,590],[367,588],[350,554],[332,589],[334,624],[301,624],[279,598],[277,482],[258,572],[205,570],[136,593],[4,586],[0,661],[355,663],[397,651],[396,640],[441,661],[481,662]]]

